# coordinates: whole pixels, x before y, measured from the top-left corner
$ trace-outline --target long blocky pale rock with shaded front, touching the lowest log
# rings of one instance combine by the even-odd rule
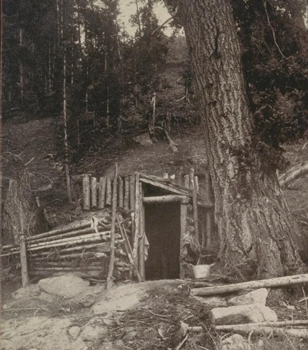
[[[277,315],[262,304],[246,304],[215,308],[211,310],[213,324],[231,325],[238,323],[275,322]]]

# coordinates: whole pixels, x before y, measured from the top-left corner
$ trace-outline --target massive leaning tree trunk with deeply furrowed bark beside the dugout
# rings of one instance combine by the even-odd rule
[[[254,122],[229,0],[178,1],[194,69],[215,193],[219,258],[251,259],[257,275],[293,274],[302,265],[275,169],[264,169],[253,147]],[[292,235],[292,237],[290,236]]]

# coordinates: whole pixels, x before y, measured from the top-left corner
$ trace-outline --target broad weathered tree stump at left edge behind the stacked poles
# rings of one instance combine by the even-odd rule
[[[21,203],[23,233],[26,237],[48,231],[48,222],[31,192],[28,172],[23,169],[20,170],[18,179],[9,181],[3,207],[2,237],[14,237],[14,241],[18,242],[20,234],[18,203]]]

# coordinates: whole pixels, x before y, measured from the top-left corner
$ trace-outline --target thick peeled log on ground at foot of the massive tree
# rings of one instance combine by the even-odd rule
[[[191,290],[192,295],[208,296],[208,295],[219,295],[241,291],[243,289],[256,289],[256,288],[268,288],[268,287],[282,287],[293,284],[307,283],[308,274],[284,276],[269,279],[260,279],[257,281],[249,281],[235,284],[227,284],[215,287],[205,288],[193,288]]]

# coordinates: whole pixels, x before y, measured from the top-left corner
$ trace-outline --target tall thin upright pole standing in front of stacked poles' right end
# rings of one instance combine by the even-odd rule
[[[118,178],[118,164],[115,164],[113,186],[112,186],[112,209],[111,209],[111,233],[110,233],[110,262],[107,276],[106,288],[112,287],[113,268],[114,268],[114,241],[115,241],[115,221],[117,208],[117,178]]]

